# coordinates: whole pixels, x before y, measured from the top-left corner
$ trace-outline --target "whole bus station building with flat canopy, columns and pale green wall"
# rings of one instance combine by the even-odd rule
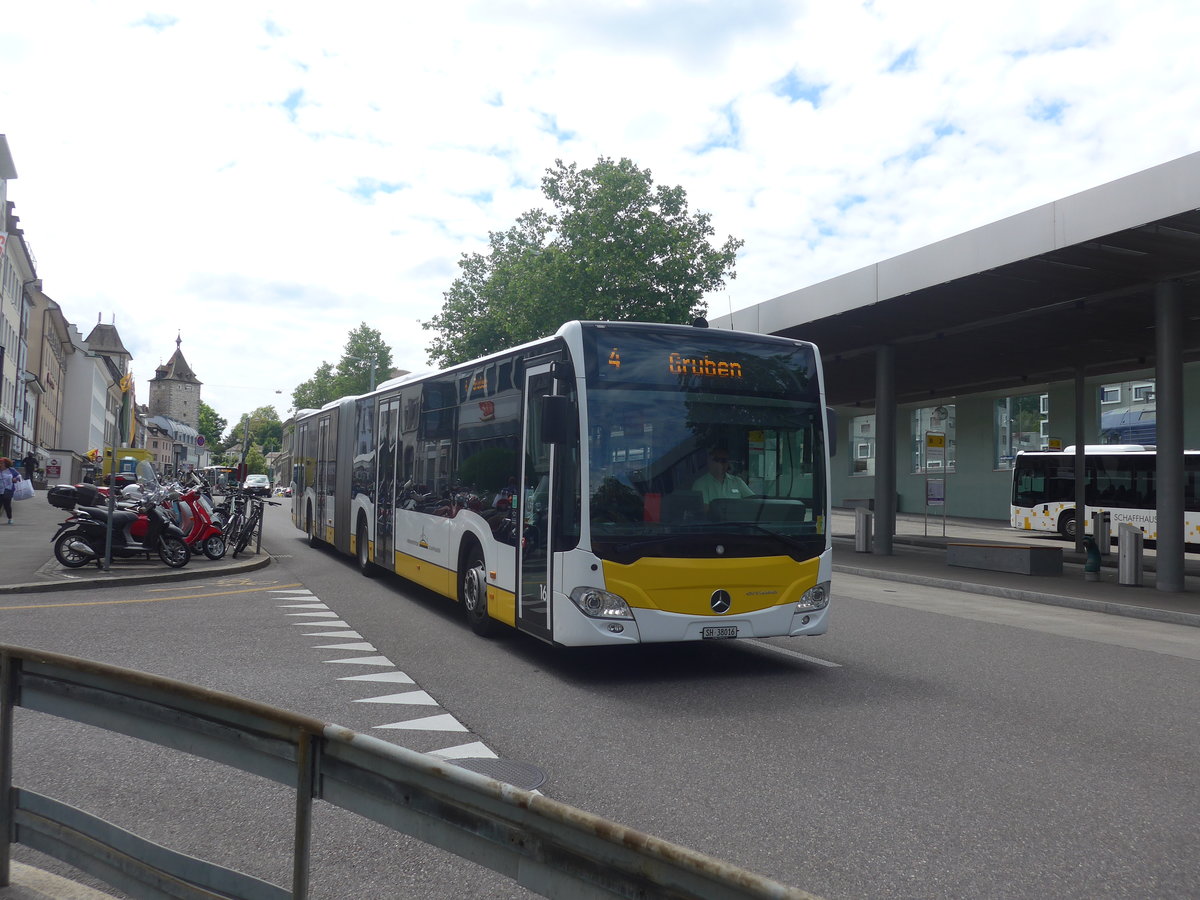
[[[1182,509],[1182,451],[1200,448],[1200,152],[712,324],[821,349],[833,502],[875,510],[875,552],[892,552],[896,511],[926,511],[932,474],[938,514],[1007,521],[1018,451],[1144,421],[1160,464],[1180,461],[1178,481],[1159,470],[1171,521],[1163,488]],[[1159,538],[1159,587],[1164,551],[1182,583],[1182,533]]]

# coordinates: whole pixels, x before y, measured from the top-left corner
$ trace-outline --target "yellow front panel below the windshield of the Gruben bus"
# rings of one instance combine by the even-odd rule
[[[731,612],[752,612],[797,602],[817,583],[820,559],[638,559],[604,564],[605,587],[630,606],[685,616],[712,616],[714,590],[727,590]]]

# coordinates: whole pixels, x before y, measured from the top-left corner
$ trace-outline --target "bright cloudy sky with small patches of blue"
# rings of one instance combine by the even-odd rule
[[[46,292],[234,421],[362,322],[425,368],[556,158],[744,239],[718,314],[1200,150],[1198,43],[1194,0],[6,4],[0,133]]]

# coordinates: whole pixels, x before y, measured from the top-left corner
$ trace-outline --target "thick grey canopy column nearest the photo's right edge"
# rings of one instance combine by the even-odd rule
[[[1158,425],[1159,590],[1183,584],[1183,293],[1177,282],[1154,286],[1154,402]]]

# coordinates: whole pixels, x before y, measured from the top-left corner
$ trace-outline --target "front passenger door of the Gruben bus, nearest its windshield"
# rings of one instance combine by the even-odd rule
[[[551,491],[554,450],[541,439],[541,400],[552,394],[550,362],[526,368],[524,439],[521,454],[520,527],[517,541],[517,628],[550,638],[553,631],[551,590]]]

